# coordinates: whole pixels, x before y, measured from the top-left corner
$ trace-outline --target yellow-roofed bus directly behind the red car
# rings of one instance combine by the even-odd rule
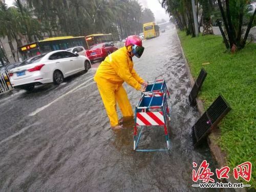
[[[114,41],[113,35],[109,34],[92,34],[86,36],[86,41],[89,47],[92,47],[96,44],[101,44],[102,42],[111,42]]]

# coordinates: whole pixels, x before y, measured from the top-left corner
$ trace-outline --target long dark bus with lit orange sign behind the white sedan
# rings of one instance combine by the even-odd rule
[[[39,55],[42,53],[48,53],[55,50],[69,49],[72,47],[82,46],[84,49],[88,49],[88,45],[84,36],[62,36],[62,37],[50,37],[44,40],[31,42],[30,44],[20,46],[18,48],[22,59]]]

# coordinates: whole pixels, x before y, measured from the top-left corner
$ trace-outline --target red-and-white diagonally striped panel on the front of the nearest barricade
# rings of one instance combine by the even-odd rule
[[[164,125],[163,112],[140,112],[137,113],[137,125]]]

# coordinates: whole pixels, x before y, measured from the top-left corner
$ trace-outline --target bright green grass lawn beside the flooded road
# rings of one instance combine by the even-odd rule
[[[231,54],[225,49],[221,36],[191,38],[184,32],[178,34],[193,77],[197,78],[201,68],[208,73],[199,94],[204,108],[219,94],[230,104],[232,110],[219,123],[218,144],[226,152],[231,170],[245,161],[252,163],[249,184],[256,188],[256,44],[248,44]],[[205,62],[210,64],[203,66]],[[243,180],[243,183],[246,182]]]

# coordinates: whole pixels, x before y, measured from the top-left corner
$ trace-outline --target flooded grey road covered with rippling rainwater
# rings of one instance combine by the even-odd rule
[[[143,45],[143,56],[134,59],[137,73],[148,81],[164,78],[171,94],[171,150],[134,152],[133,122],[110,129],[94,68],[58,87],[0,99],[0,191],[200,191],[191,187],[192,163],[214,163],[207,147],[192,146],[190,128],[199,113],[188,104],[191,88],[176,30]],[[125,89],[135,109],[140,92]],[[161,129],[147,129],[141,142],[166,144]]]

